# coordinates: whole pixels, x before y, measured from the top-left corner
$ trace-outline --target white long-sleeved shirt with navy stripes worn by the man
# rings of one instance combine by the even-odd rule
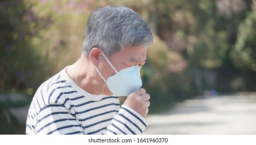
[[[67,68],[67,67],[66,67]],[[141,134],[147,121],[115,96],[93,95],[79,88],[66,68],[36,91],[26,134]]]

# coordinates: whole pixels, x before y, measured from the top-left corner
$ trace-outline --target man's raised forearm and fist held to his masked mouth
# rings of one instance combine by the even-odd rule
[[[145,89],[132,92],[106,129],[106,134],[141,134],[147,126],[144,119],[149,112],[150,95]]]

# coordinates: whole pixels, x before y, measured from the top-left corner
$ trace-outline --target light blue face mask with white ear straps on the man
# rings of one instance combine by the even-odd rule
[[[110,61],[107,59],[105,54],[101,51],[102,55],[105,57],[106,61],[110,66],[116,71]],[[106,82],[107,87],[115,96],[128,96],[133,91],[138,90],[142,86],[142,81],[140,78],[140,67],[138,65],[116,71],[116,74],[104,79],[100,74],[98,68],[96,67],[98,74]]]

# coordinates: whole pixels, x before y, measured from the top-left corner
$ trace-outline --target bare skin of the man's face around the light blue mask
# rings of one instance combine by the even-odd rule
[[[147,47],[125,47],[122,51],[119,51],[109,57],[110,63],[114,66],[117,71],[122,69],[138,65],[140,68],[146,62],[146,51]],[[105,58],[101,57],[102,66],[99,66],[101,69],[101,74],[107,80],[109,76],[116,74],[115,70],[110,66]],[[103,81],[103,80],[102,80]],[[107,88],[106,84],[105,87]],[[112,93],[107,89],[108,94]]]

